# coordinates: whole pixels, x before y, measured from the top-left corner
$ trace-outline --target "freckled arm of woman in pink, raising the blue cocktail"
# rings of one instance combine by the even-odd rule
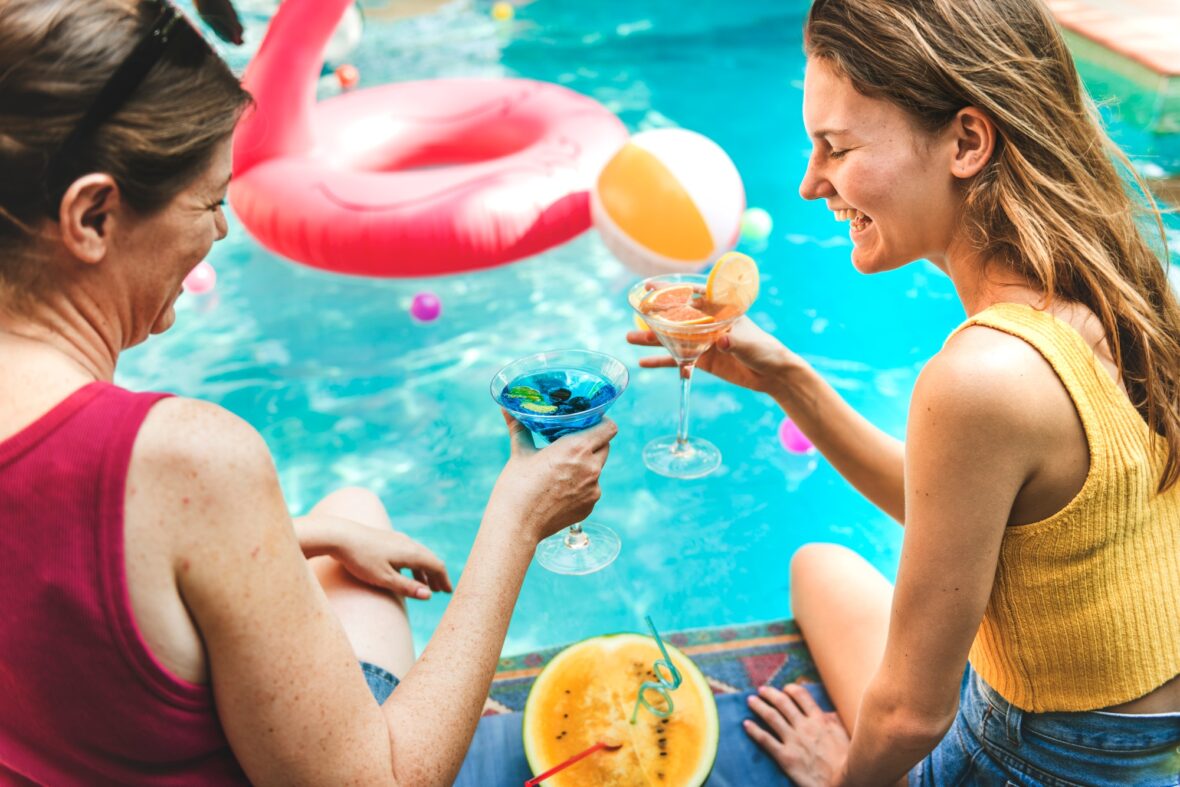
[[[157,409],[158,438],[145,447],[158,452],[153,494],[165,500],[162,526],[173,533],[176,581],[208,651],[218,716],[250,780],[451,783],[532,549],[592,509],[614,425],[544,452],[514,433],[439,631],[379,707],[303,559],[261,438],[199,402]],[[548,507],[530,505],[540,498]]]

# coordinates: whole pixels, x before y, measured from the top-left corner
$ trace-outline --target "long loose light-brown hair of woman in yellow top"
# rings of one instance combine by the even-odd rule
[[[927,132],[965,106],[988,113],[998,140],[966,185],[969,240],[1050,300],[1083,303],[1099,316],[1132,402],[1166,440],[1159,490],[1173,486],[1180,306],[1168,287],[1163,223],[1103,131],[1048,8],[1041,0],[815,0],[805,48]],[[1159,254],[1140,234],[1143,216],[1159,229]]]

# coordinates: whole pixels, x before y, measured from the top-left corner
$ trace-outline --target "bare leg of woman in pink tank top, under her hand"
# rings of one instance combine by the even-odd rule
[[[362,488],[333,492],[315,504],[312,513],[333,514],[369,527],[393,529],[380,498]],[[356,656],[405,677],[414,664],[406,602],[389,591],[359,582],[330,557],[312,558],[309,564]]]

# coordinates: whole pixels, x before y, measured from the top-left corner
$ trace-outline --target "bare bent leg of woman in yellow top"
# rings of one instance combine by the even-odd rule
[[[795,623],[850,734],[885,654],[892,601],[893,585],[844,546],[808,544],[791,558]]]

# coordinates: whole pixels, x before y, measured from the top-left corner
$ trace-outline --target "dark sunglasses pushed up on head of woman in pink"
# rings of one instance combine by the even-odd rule
[[[201,33],[168,0],[148,0],[145,5],[158,8],[156,20],[131,54],[106,80],[93,103],[78,120],[78,125],[50,158],[46,168],[45,197],[46,211],[51,218],[58,217],[61,197],[73,178],[80,173],[86,162],[86,145],[94,131],[127,103],[164,54],[168,53],[183,66],[195,67],[212,53]]]

